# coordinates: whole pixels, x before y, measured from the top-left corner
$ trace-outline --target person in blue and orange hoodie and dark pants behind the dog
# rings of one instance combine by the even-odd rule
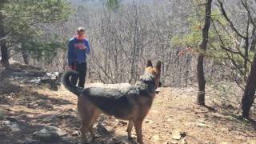
[[[78,82],[79,87],[84,87],[87,69],[86,55],[90,54],[90,45],[83,27],[78,27],[78,32],[74,38],[70,39],[68,48],[69,68],[78,72],[78,77],[72,77],[71,83],[75,86]]]

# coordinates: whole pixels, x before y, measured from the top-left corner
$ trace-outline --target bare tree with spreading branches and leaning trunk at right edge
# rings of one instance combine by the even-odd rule
[[[245,18],[244,26],[241,28],[235,25],[234,20],[232,20],[226,13],[224,3],[218,0],[218,7],[222,12],[223,17],[226,19],[228,26],[223,26],[221,22],[217,23],[222,27],[222,30],[224,30],[226,34],[230,35],[230,38],[234,40],[234,46],[226,44],[218,30],[215,29],[215,32],[218,34],[222,50],[226,51],[227,58],[230,59],[231,70],[235,70],[236,74],[241,74],[242,79],[246,82],[245,86],[240,86],[243,82],[238,80],[238,75],[234,75],[234,81],[238,83],[238,86],[240,86],[242,90],[244,90],[242,94],[242,116],[243,118],[249,118],[250,107],[254,103],[254,94],[256,89],[256,54],[254,52],[256,44],[256,18],[254,18],[255,15],[251,13],[251,11],[255,10],[254,6],[256,3],[254,1],[245,0],[240,0],[240,2],[242,4],[241,9],[244,11]],[[250,58],[250,53],[254,55],[252,59]],[[242,58],[242,62],[239,62],[236,57]],[[229,64],[226,64],[226,66],[228,65]]]

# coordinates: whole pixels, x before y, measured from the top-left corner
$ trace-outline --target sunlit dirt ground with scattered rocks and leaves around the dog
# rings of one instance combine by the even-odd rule
[[[77,97],[46,75],[32,66],[1,70],[0,143],[82,142]],[[254,120],[239,117],[238,88],[224,83],[207,86],[207,107],[194,104],[196,90],[160,88],[142,125],[146,144],[256,143],[255,110]],[[102,115],[95,124],[98,138],[90,143],[128,143],[126,126],[127,122]],[[136,138],[134,130],[133,135]]]

